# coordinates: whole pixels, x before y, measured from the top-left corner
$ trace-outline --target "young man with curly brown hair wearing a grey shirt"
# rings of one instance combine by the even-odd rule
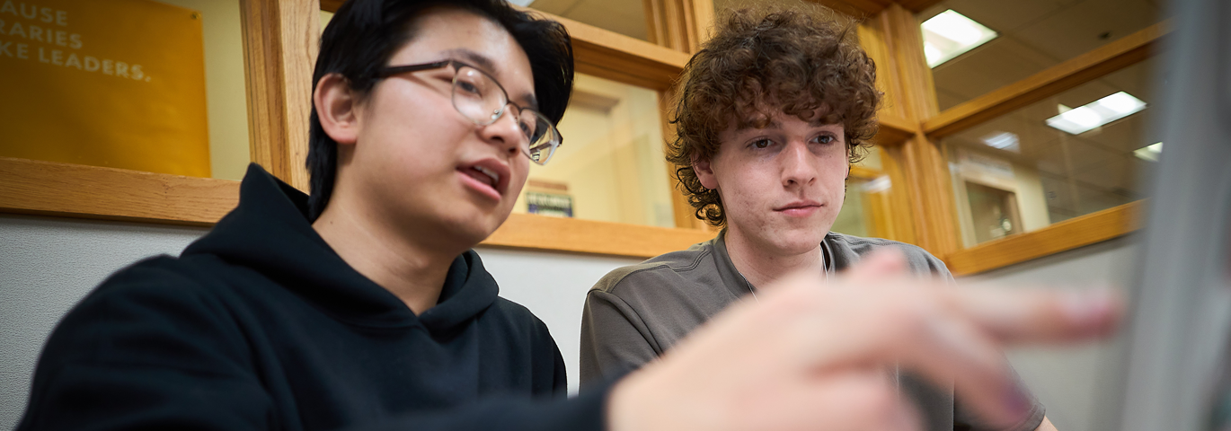
[[[582,318],[582,384],[639,368],[714,314],[756,300],[784,275],[836,277],[878,249],[900,250],[915,275],[953,280],[913,245],[830,232],[851,164],[876,132],[873,60],[854,23],[825,9],[731,12],[689,62],[667,160],[697,209],[723,228],[710,241],[608,273]],[[991,427],[955,409],[950,388],[897,377],[933,430],[1051,429],[1043,408]]]

